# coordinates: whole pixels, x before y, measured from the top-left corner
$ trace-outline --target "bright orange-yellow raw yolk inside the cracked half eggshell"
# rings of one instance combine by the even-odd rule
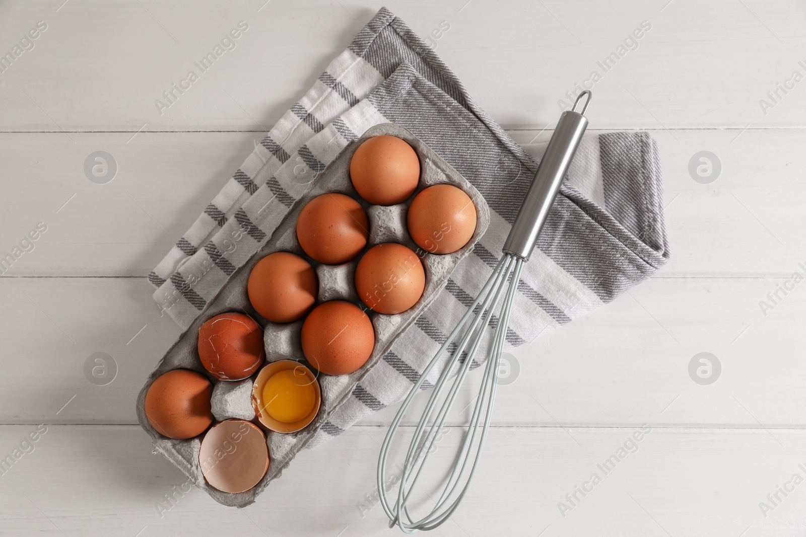
[[[268,415],[283,423],[305,419],[316,405],[314,382],[297,370],[282,370],[272,375],[263,388]]]

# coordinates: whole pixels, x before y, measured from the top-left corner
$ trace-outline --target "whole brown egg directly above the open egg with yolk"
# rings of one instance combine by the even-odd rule
[[[302,352],[310,365],[324,374],[358,370],[374,347],[372,320],[351,302],[319,304],[302,324]]]

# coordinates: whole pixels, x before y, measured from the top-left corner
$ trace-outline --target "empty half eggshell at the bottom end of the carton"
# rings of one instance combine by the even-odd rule
[[[268,444],[259,428],[243,419],[227,419],[202,439],[199,466],[210,486],[223,492],[246,492],[268,470]]]

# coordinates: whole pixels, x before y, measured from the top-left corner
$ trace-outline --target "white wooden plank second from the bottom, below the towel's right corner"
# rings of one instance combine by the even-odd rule
[[[758,303],[769,291],[775,280],[650,279],[514,349],[520,374],[498,390],[496,423],[621,426],[663,411],[654,420],[669,426],[806,428],[806,294],[796,287],[764,316]],[[145,279],[0,279],[0,295],[2,423],[136,423],[133,399],[179,335],[160,318]],[[85,361],[97,352],[118,364],[108,386],[85,378]],[[701,352],[721,362],[710,386],[688,374]],[[476,395],[479,373],[460,407]],[[364,423],[387,424],[394,411]],[[417,411],[411,415],[416,422]]]

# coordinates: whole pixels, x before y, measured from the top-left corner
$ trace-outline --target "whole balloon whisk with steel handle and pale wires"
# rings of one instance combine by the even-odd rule
[[[581,112],[576,112],[576,106],[584,95],[588,96]],[[476,466],[479,464],[481,452],[484,449],[484,441],[492,415],[492,403],[496,397],[496,380],[498,378],[499,362],[501,361],[501,350],[504,347],[507,325],[509,324],[509,311],[512,308],[513,297],[517,290],[517,282],[521,276],[521,269],[524,263],[529,261],[530,254],[538,241],[538,234],[546,221],[551,204],[554,202],[559,186],[563,182],[577,146],[582,139],[585,128],[588,126],[588,119],[584,117],[585,110],[591,101],[591,92],[585,90],[576,98],[571,110],[563,112],[557,122],[554,134],[551,136],[546,153],[543,155],[538,171],[534,175],[534,180],[526,193],[526,198],[521,204],[521,210],[517,213],[517,218],[509,231],[509,236],[502,248],[503,256],[498,262],[492,275],[484,284],[478,297],[467,308],[467,313],[459,320],[453,332],[447,337],[445,343],[440,347],[434,358],[430,361],[426,370],[422,372],[418,382],[411,389],[400,410],[389,427],[384,439],[384,444],[380,448],[378,457],[378,493],[380,494],[380,504],[384,507],[389,520],[389,527],[397,525],[405,533],[414,533],[418,530],[433,530],[440,526],[453,514],[454,510],[462,502],[467,487],[472,481],[473,474],[476,473]],[[492,316],[499,301],[503,297],[501,310],[498,314],[497,324]],[[484,377],[481,382],[481,390],[476,399],[476,406],[470,418],[470,424],[465,434],[459,454],[455,458],[455,465],[451,475],[447,479],[445,489],[442,490],[436,506],[425,517],[414,520],[409,513],[409,498],[421,477],[422,469],[425,468],[426,461],[433,451],[434,442],[438,434],[442,431],[447,415],[453,407],[459,386],[462,385],[467,371],[470,370],[473,357],[479,349],[484,330],[490,324],[494,328],[492,342],[487,354],[487,366],[484,370]],[[457,337],[460,336],[457,342]],[[405,464],[400,477],[400,486],[397,489],[397,499],[393,504],[386,498],[386,460],[389,446],[392,442],[397,427],[409,408],[414,395],[418,394],[422,383],[434,366],[438,363],[442,355],[452,345],[455,345],[449,363],[440,374],[430,399],[423,412],[422,418],[414,431],[413,439],[409,445],[409,451],[405,456]],[[451,372],[458,362],[459,370],[445,397],[442,407],[439,407],[436,417],[432,419],[434,411],[437,409],[437,401],[446,386]],[[484,421],[481,416],[484,414]],[[430,426],[428,425],[430,423]],[[427,433],[426,433],[427,429]],[[480,430],[481,429],[481,430]],[[425,434],[425,437],[423,435]],[[478,437],[478,443],[476,443]],[[472,456],[473,446],[476,444],[476,455]],[[467,470],[469,469],[469,473]],[[465,474],[467,473],[467,477]],[[462,485],[463,484],[463,485]]]

